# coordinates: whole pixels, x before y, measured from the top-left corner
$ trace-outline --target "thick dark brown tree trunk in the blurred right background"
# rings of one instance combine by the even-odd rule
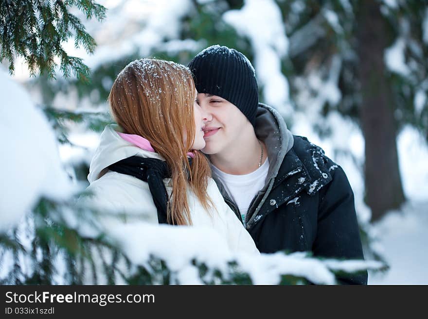
[[[398,208],[405,198],[398,167],[395,105],[385,76],[388,26],[378,1],[361,0],[358,10],[358,76],[362,94],[359,117],[365,139],[366,203],[374,221]]]

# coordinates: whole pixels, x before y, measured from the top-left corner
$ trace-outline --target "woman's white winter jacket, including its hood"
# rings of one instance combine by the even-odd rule
[[[107,125],[101,134],[100,145],[90,163],[87,190],[90,205],[112,214],[125,213],[127,218],[111,219],[110,222],[131,223],[133,218],[143,218],[153,224],[158,223],[158,214],[148,184],[125,174],[108,170],[108,166],[130,156],[151,157],[164,160],[160,154],[145,151],[117,134],[117,125]],[[168,194],[170,179],[164,179]],[[207,192],[216,210],[207,212],[196,195],[189,189],[188,203],[193,227],[212,227],[222,238],[225,238],[232,252],[258,253],[254,241],[243,225],[236,218],[231,208],[223,200],[213,179],[210,179]],[[131,218],[130,218],[131,217]],[[114,221],[113,221],[114,220]]]

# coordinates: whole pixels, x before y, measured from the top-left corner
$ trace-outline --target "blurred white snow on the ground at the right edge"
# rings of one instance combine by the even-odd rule
[[[428,145],[421,134],[405,127],[398,135],[398,155],[408,202],[374,224],[376,246],[391,269],[370,273],[372,285],[428,284]]]

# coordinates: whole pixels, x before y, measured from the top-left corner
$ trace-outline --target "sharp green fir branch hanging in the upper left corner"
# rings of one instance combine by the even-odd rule
[[[62,42],[74,35],[75,47],[83,47],[88,53],[95,50],[95,40],[86,32],[80,19],[70,13],[72,7],[82,11],[87,19],[98,21],[106,17],[106,8],[92,0],[3,1],[0,8],[0,62],[9,61],[13,74],[15,57],[23,57],[30,74],[47,74],[55,77],[60,60],[60,71],[64,78],[74,74],[80,81],[89,81],[89,68],[82,59],[69,56]]]

